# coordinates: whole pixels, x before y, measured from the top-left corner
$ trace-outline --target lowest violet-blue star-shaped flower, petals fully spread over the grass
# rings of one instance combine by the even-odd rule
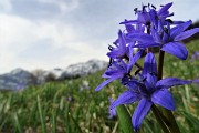
[[[175,102],[169,88],[175,85],[190,84],[192,81],[177,78],[166,78],[157,81],[157,65],[153,53],[145,57],[144,69],[139,74],[139,80],[132,79],[127,83],[127,91],[122,93],[111,105],[111,109],[119,104],[130,104],[139,101],[133,117],[133,126],[138,131],[142,121],[150,110],[153,104],[174,111]]]

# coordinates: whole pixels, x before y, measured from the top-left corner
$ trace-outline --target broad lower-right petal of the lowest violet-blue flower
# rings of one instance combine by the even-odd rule
[[[171,93],[167,89],[157,90],[151,95],[151,101],[158,105],[161,105],[168,110],[175,110],[175,102]]]

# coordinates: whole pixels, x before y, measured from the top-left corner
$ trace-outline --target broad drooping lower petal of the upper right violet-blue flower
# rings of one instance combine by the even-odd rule
[[[166,51],[181,60],[186,60],[188,57],[188,51],[186,47],[179,42],[169,42],[163,45],[163,51]]]

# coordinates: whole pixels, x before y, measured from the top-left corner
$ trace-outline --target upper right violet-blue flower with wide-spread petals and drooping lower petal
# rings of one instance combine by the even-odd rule
[[[188,51],[185,44],[182,44],[180,41],[199,32],[199,28],[186,31],[191,23],[191,21],[187,21],[170,29],[169,22],[167,22],[167,25],[165,27],[161,21],[159,21],[158,29],[150,29],[151,34],[132,33],[128,34],[128,38],[132,39],[132,41],[139,42],[137,45],[135,45],[136,48],[159,47],[160,50],[181,60],[186,60],[188,57]]]

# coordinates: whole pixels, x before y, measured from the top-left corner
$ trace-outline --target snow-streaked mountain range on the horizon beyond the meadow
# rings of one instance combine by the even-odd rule
[[[29,72],[23,69],[14,69],[9,73],[0,75],[0,90],[21,90],[30,85],[39,85],[49,81],[62,81],[95,73],[104,70],[107,62],[101,60],[90,60],[87,62],[76,63],[65,69],[53,69],[44,71],[41,69]]]

